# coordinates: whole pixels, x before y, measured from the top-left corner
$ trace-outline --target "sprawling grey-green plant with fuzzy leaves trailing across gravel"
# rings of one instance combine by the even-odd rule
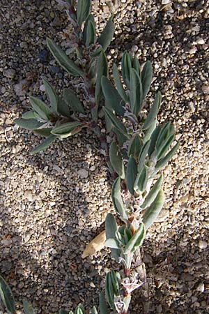
[[[50,105],[31,97],[33,110],[24,113],[15,123],[45,137],[32,154],[45,149],[57,138],[79,133],[82,128],[90,128],[100,139],[109,170],[116,174],[111,198],[118,216],[116,220],[113,214],[107,214],[105,245],[111,249],[111,256],[120,267],[119,271],[111,269],[107,274],[99,310],[93,307],[91,314],[98,311],[100,314],[125,314],[132,292],[146,282],[140,247],[163,207],[160,170],[176,153],[178,143],[171,148],[175,137],[171,123],[160,125],[157,122],[162,100],[160,91],[152,105],[146,100],[153,78],[150,61],[141,68],[136,56],[124,52],[122,73],[114,64],[112,82],[105,51],[114,36],[113,17],[97,36],[90,13],[91,0],[78,0],[77,6],[74,0],[68,0],[66,6],[75,38],[71,57],[76,55],[77,59],[70,59],[52,39],[47,38],[47,46],[60,66],[70,75],[80,77],[79,87],[83,89],[88,105],[84,106],[71,89],[64,89],[62,96],[57,95],[54,87],[44,79]],[[109,145],[101,132],[104,124],[106,134],[111,137]],[[15,313],[14,299],[3,278],[0,294],[8,311]],[[26,304],[30,306],[25,301],[24,307]],[[31,306],[30,309],[25,313],[34,313]],[[72,311],[60,311],[60,314],[68,313],[73,314]],[[84,313],[84,307],[79,304],[75,314]]]

